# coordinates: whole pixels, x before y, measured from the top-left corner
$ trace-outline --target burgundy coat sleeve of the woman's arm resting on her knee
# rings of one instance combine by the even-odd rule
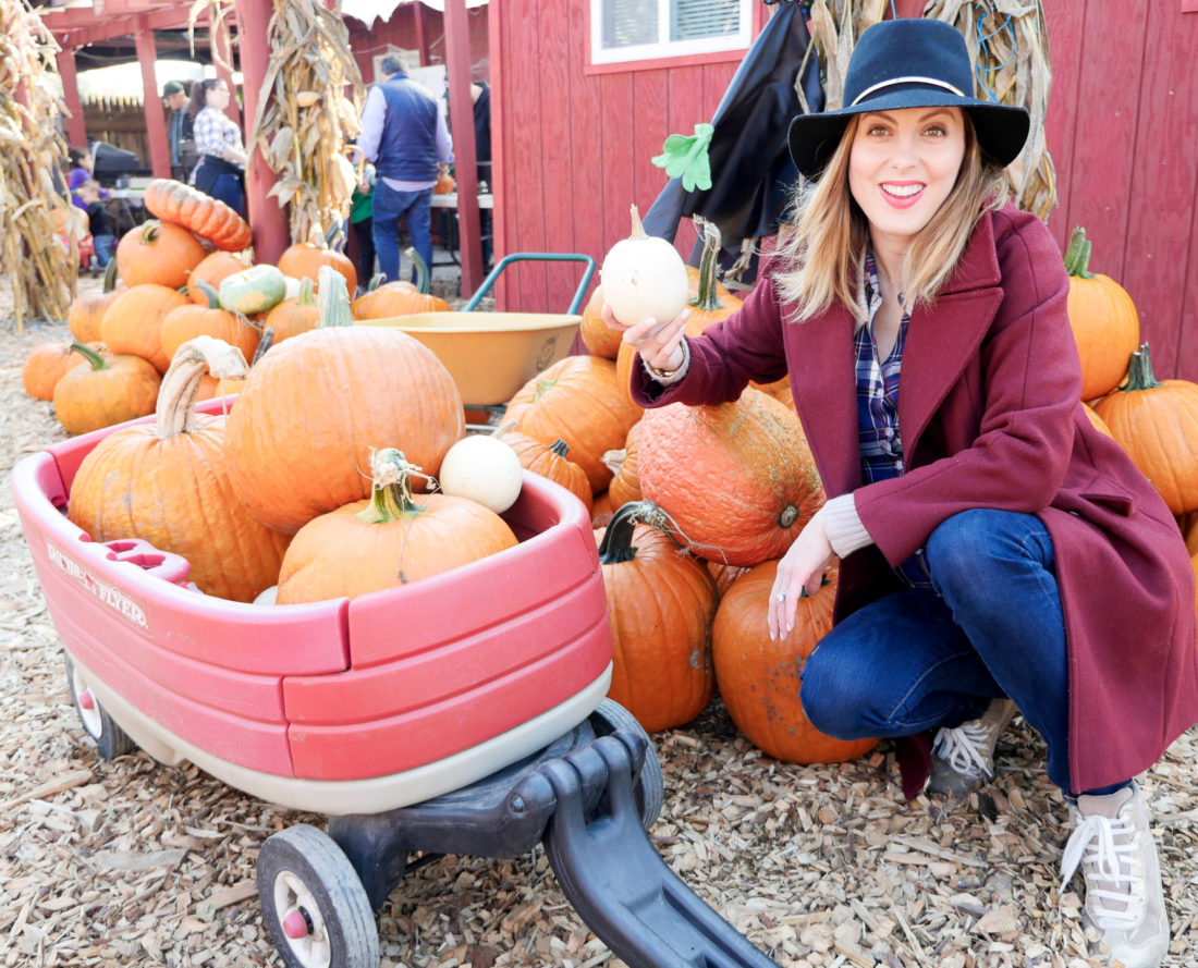
[[[914,553],[958,512],[1040,512],[1065,479],[1082,395],[1066,313],[1069,277],[1052,236],[1035,218],[999,234],[997,255],[1003,301],[978,351],[980,413],[969,412],[960,398],[954,407],[950,388],[940,415],[955,422],[946,435],[963,446],[854,491],[861,524],[891,564]]]

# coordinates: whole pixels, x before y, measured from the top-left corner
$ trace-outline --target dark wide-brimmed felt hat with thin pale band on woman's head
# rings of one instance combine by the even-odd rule
[[[845,107],[800,114],[789,128],[791,157],[807,179],[828,164],[854,114],[900,108],[962,108],[982,153],[999,165],[1014,162],[1028,140],[1023,108],[973,96],[973,67],[964,37],[943,20],[906,17],[866,29],[845,77]]]

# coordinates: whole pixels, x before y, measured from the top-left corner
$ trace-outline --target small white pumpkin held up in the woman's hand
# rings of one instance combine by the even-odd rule
[[[670,322],[690,298],[690,278],[678,249],[645,234],[635,205],[633,234],[611,247],[599,277],[604,302],[624,326],[635,326],[649,316]]]

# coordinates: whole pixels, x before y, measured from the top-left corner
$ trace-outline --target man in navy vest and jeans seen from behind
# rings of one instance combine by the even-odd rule
[[[400,219],[431,271],[432,187],[449,170],[453,144],[436,98],[407,75],[404,60],[389,54],[380,66],[387,79],[367,93],[358,146],[375,167],[371,231],[379,271],[391,283],[399,279]]]

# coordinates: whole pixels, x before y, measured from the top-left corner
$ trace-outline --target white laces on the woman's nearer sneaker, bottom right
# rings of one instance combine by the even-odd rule
[[[1084,865],[1085,906],[1102,931],[1135,927],[1143,916],[1144,878],[1136,873],[1135,854],[1135,828],[1123,817],[1090,813],[1078,822],[1065,845],[1060,891],[1065,893],[1078,865]],[[1113,903],[1118,907],[1111,907]]]

